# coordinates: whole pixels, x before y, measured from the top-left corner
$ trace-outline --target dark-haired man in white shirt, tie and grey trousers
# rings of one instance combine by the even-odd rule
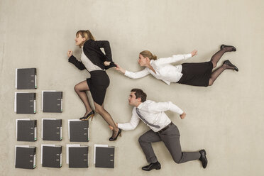
[[[179,130],[164,113],[167,110],[174,111],[180,114],[181,119],[184,119],[186,116],[185,112],[175,104],[172,104],[171,101],[156,103],[151,100],[145,101],[146,97],[147,95],[141,89],[132,89],[128,98],[129,104],[134,106],[131,121],[128,123],[117,123],[117,126],[124,131],[135,129],[140,120],[151,128],[150,131],[147,131],[138,139],[145,157],[148,163],[150,163],[150,165],[142,167],[142,170],[160,170],[161,165],[151,146],[151,143],[158,141],[165,143],[175,163],[201,160],[202,166],[204,168],[207,167],[205,150],[182,152]]]

